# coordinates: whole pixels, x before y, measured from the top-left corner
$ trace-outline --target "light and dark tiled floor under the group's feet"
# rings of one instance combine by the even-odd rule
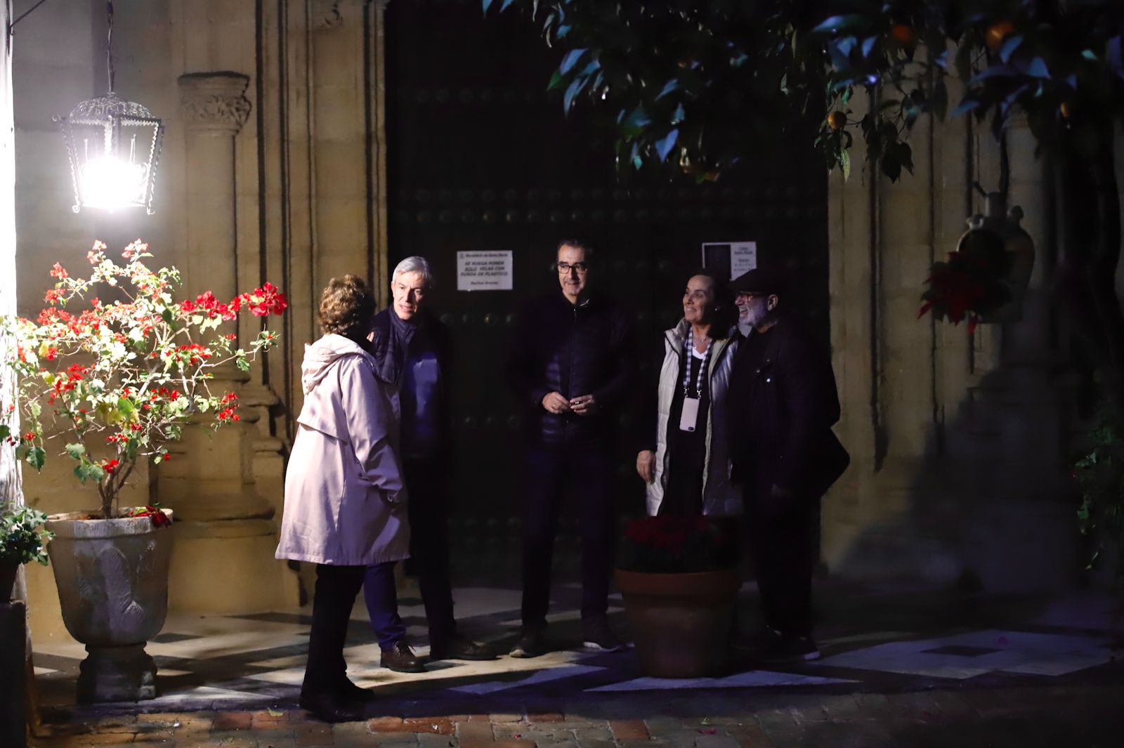
[[[754,606],[752,589],[743,591],[743,608]],[[669,688],[863,690],[963,682],[976,677],[1042,678],[1106,665],[1114,656],[1107,617],[1089,614],[1088,600],[1058,602],[1028,617],[1025,626],[963,628],[934,636],[923,626],[825,630],[824,658],[792,667],[756,669],[733,659],[723,677],[669,681],[644,677],[631,651],[590,653],[580,648],[580,591],[559,586],[551,633],[559,649],[534,659],[506,655],[488,663],[433,663],[418,675],[379,667],[379,651],[362,605],[356,605],[345,656],[351,677],[387,696],[472,699],[489,694],[644,692]],[[518,631],[519,593],[499,587],[456,591],[457,617],[465,633],[496,641],[504,651]],[[610,618],[626,629],[619,596]],[[1081,615],[1071,614],[1073,608]],[[1104,612],[1107,609],[1097,609]],[[144,711],[264,708],[296,699],[303,674],[310,619],[306,611],[242,617],[169,617],[147,650],[160,667],[161,696],[138,706]],[[427,654],[424,611],[417,599],[404,599],[400,612],[409,637]],[[36,649],[36,674],[45,706],[73,703],[81,645],[56,644]],[[123,705],[124,706],[124,705]]]

